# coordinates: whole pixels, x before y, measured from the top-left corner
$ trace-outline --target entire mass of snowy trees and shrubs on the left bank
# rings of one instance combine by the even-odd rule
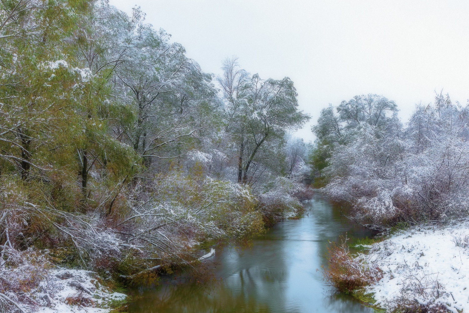
[[[106,1],[0,2],[8,312],[106,308],[106,282],[195,267],[200,244],[246,242],[302,209],[308,146],[288,134],[309,116],[293,82],[236,58],[205,73],[144,18]]]

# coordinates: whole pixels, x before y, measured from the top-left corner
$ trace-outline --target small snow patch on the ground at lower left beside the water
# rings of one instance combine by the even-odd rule
[[[104,287],[93,274],[68,268],[53,270],[47,281],[30,292],[38,306],[23,309],[35,313],[107,313],[110,302],[124,300],[126,295]]]

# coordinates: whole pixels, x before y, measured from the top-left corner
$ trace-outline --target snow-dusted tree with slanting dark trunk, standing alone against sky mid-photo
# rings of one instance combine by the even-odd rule
[[[248,183],[249,170],[266,140],[283,139],[287,130],[295,130],[309,116],[298,111],[293,82],[249,77],[239,69],[236,59],[227,60],[219,77],[227,106],[227,129],[239,146],[238,182]]]

